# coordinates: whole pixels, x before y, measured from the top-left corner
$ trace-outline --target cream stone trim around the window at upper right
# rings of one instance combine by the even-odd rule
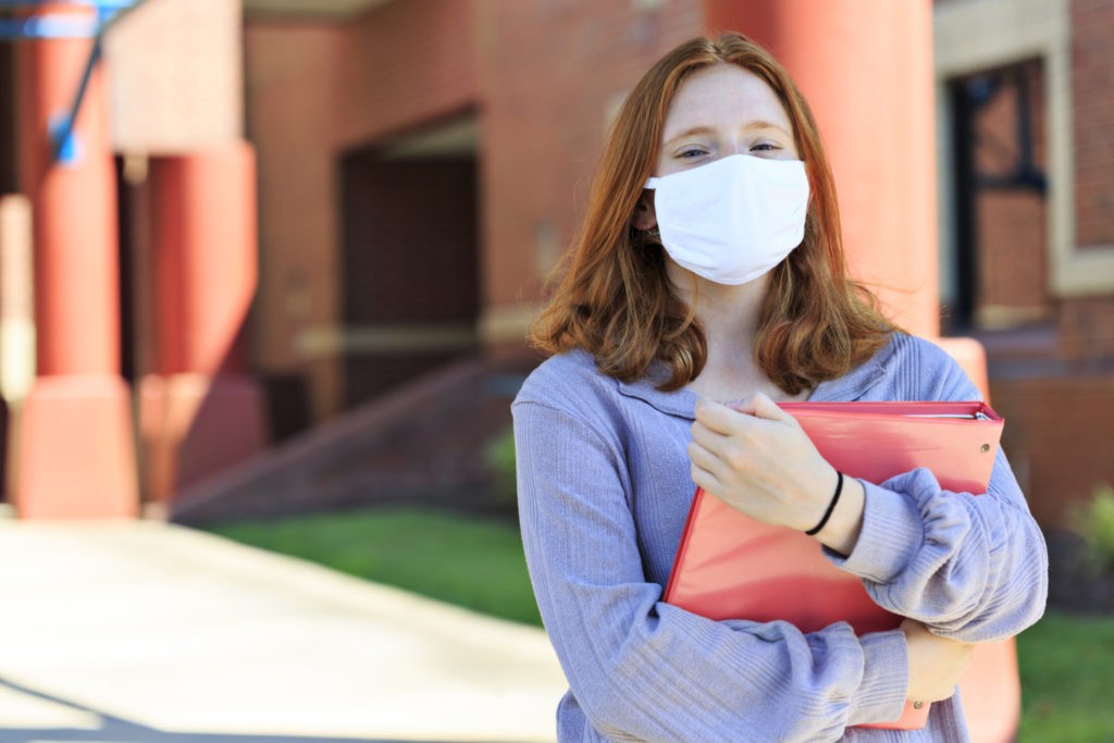
[[[1075,244],[1069,1],[967,0],[942,4],[932,13],[941,277],[954,270],[949,246],[955,236],[946,82],[987,68],[1039,58],[1045,76],[1051,291],[1062,297],[1114,291],[1114,245],[1081,250]]]

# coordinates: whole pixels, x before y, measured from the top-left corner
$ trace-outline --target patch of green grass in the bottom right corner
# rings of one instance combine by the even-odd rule
[[[1114,741],[1114,617],[1049,613],[1017,638],[1020,743]]]

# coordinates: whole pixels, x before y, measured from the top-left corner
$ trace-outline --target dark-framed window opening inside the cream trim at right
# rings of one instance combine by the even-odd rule
[[[1038,60],[950,81],[955,274],[948,332],[1052,315],[1047,280],[1044,72]]]

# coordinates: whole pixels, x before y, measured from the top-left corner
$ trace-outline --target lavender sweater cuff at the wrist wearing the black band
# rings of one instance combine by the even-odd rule
[[[866,504],[862,531],[847,557],[824,549],[837,567],[878,584],[890,583],[912,560],[924,541],[916,505],[898,492],[862,482]]]

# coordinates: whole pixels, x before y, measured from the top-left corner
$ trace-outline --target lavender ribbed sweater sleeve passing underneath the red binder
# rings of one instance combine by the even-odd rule
[[[900,632],[804,635],[712,622],[646,580],[623,454],[574,413],[516,402],[519,515],[546,630],[570,691],[608,740],[831,741],[897,717]]]

